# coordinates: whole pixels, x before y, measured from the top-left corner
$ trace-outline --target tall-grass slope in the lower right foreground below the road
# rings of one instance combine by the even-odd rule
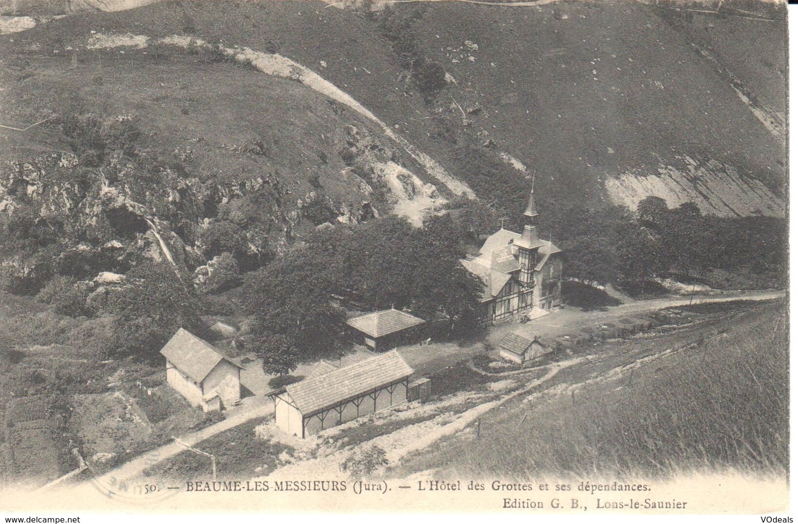
[[[597,357],[590,374],[571,368],[558,376],[558,386],[485,417],[480,439],[472,430],[453,435],[405,459],[393,474],[433,470],[512,479],[667,479],[733,470],[785,475],[784,304],[721,309],[703,311],[715,319],[702,325],[618,345],[614,357],[603,362]],[[657,349],[670,352],[643,357]]]

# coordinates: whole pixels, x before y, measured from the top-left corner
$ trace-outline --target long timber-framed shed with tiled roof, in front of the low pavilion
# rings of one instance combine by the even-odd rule
[[[306,378],[271,394],[275,424],[304,439],[407,401],[413,368],[396,351],[337,368],[322,361]]]

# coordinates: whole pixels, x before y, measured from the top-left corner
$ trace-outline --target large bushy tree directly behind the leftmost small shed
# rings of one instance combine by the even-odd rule
[[[105,312],[116,317],[120,353],[155,357],[177,329],[203,334],[196,297],[168,263],[151,261],[128,271],[128,286],[112,291]]]

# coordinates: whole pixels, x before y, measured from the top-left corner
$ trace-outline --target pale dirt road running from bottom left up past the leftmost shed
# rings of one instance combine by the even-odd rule
[[[189,446],[194,446],[205,439],[210,439],[214,435],[218,435],[222,431],[227,431],[232,427],[243,424],[248,420],[257,419],[262,416],[269,416],[274,413],[275,407],[271,399],[266,397],[251,396],[243,400],[243,405],[236,408],[234,413],[231,413],[227,419],[213,424],[212,426],[204,427],[199,431],[189,433],[188,435],[179,435],[181,442],[187,443]],[[89,479],[86,483],[92,483],[97,487],[113,487],[114,485],[132,479],[152,466],[153,464],[160,463],[160,461],[169,459],[181,451],[186,451],[186,447],[179,443],[172,442],[161,447],[156,447],[152,451],[144,453],[128,463],[124,463],[119,467],[97,477]]]

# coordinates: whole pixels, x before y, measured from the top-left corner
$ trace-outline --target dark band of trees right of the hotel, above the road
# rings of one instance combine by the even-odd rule
[[[626,207],[574,207],[552,223],[566,252],[564,272],[585,282],[638,286],[676,275],[701,279],[710,270],[745,271],[762,285],[784,278],[787,227],[763,216],[701,215],[695,203],[669,209],[650,196]]]

